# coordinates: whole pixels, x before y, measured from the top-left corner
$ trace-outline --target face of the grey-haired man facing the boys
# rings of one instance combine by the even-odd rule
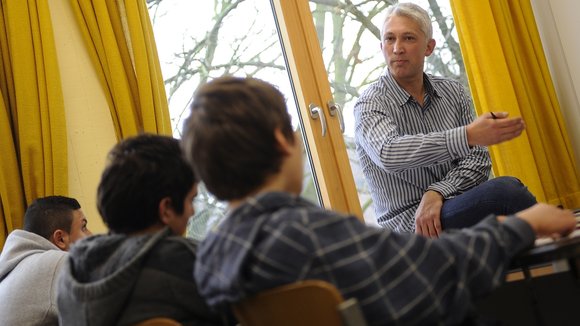
[[[392,16],[383,26],[381,48],[391,75],[399,84],[423,80],[425,57],[435,40],[427,40],[419,24],[405,16]]]

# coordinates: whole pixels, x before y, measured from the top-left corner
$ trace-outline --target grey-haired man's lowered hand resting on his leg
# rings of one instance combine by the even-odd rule
[[[441,228],[442,206],[443,196],[440,193],[433,190],[425,192],[415,212],[415,233],[438,238],[443,231]]]

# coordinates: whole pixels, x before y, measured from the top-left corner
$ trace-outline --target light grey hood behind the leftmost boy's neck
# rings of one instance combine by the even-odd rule
[[[0,281],[25,258],[47,250],[61,251],[57,246],[36,233],[14,230],[6,239],[0,254]]]

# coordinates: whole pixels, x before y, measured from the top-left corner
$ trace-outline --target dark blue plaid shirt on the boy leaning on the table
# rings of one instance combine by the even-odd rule
[[[503,282],[534,241],[522,219],[490,216],[439,239],[364,225],[286,193],[233,210],[198,246],[195,279],[213,307],[307,279],[356,298],[369,325],[450,325]]]

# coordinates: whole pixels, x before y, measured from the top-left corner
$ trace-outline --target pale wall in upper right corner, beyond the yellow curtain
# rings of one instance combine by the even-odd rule
[[[580,1],[532,0],[566,129],[580,167]]]

